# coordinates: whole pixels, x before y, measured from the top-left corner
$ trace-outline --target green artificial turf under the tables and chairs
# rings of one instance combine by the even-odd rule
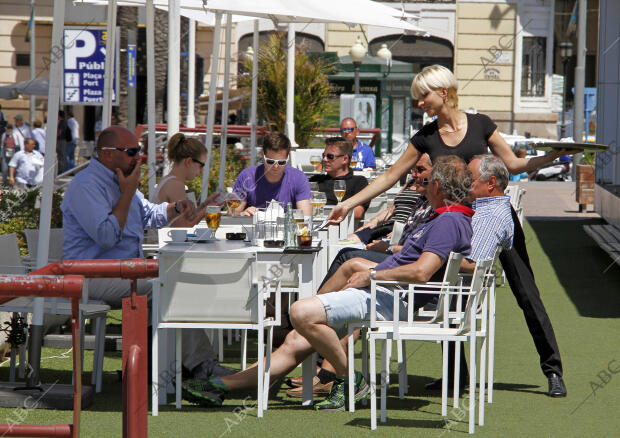
[[[494,401],[485,409],[485,425],[476,426],[481,437],[610,437],[620,435],[620,267],[583,232],[582,225],[597,221],[540,221],[526,223],[528,249],[547,312],[562,354],[568,397],[547,397],[547,380],[525,325],[521,310],[507,286],[497,290],[497,337]],[[238,366],[238,345],[227,347],[230,366]],[[358,348],[359,351],[359,348]],[[69,383],[71,359],[52,358],[62,351],[44,349],[44,382],[57,378]],[[439,346],[411,342],[407,346],[409,395],[398,399],[393,355],[387,423],[370,430],[368,407],[353,414],[317,413],[286,397],[282,388],[269,402],[262,419],[256,418],[254,399],[233,398],[221,409],[170,403],[158,417],[149,415],[149,436],[191,437],[361,437],[361,436],[465,436],[467,413],[449,409],[449,422],[441,415],[441,398],[424,384],[440,377]],[[86,354],[86,369],[92,352]],[[357,359],[359,367],[359,358]],[[121,385],[116,370],[120,353],[107,353],[103,393],[82,413],[82,436],[118,437],[122,434]],[[378,369],[379,365],[378,365]],[[299,374],[296,369],[294,374]],[[0,368],[8,379],[8,368]],[[90,380],[90,375],[85,382]],[[244,408],[244,406],[246,408]],[[0,422],[15,417],[0,409]],[[20,413],[22,418],[23,412]],[[27,411],[26,423],[71,421],[70,411]],[[446,426],[449,424],[449,426]]]

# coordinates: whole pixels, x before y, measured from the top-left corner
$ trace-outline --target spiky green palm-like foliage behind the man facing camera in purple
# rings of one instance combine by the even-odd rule
[[[244,66],[252,72],[251,60]],[[286,126],[286,35],[273,33],[258,52],[259,117],[272,130],[284,132]],[[306,50],[295,51],[295,140],[307,147],[314,130],[319,127],[327,109],[330,89],[327,75],[334,69],[321,58],[311,58]],[[252,75],[245,75],[240,84],[250,87]]]

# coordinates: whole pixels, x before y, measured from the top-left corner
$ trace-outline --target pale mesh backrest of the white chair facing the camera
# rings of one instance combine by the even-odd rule
[[[160,321],[258,323],[255,263],[256,253],[160,253]]]

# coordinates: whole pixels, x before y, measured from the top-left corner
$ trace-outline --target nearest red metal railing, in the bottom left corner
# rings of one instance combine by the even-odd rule
[[[4,301],[15,297],[71,299],[71,342],[73,346],[73,424],[0,424],[2,436],[66,437],[80,436],[82,411],[82,353],[80,345],[80,299],[83,276],[65,277],[0,276],[0,295]]]

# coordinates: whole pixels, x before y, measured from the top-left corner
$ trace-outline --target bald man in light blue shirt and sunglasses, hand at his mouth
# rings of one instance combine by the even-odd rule
[[[152,204],[138,190],[138,139],[126,128],[104,129],[97,158],[69,184],[61,205],[65,260],[141,258],[145,228],[165,226],[183,215],[198,223],[190,201]],[[146,293],[149,283],[139,282]],[[120,307],[129,295],[129,281],[102,279],[89,283],[89,296]]]

